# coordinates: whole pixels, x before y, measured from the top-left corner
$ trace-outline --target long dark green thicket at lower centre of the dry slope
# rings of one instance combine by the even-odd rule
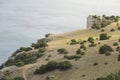
[[[39,67],[39,69],[35,70],[35,74],[44,74],[49,71],[53,71],[56,69],[59,70],[67,70],[72,67],[72,64],[69,61],[62,61],[62,62],[55,62],[55,61],[50,61],[46,65],[42,65]]]

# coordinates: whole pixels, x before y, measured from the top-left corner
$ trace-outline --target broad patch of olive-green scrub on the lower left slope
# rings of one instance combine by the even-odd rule
[[[31,54],[20,54],[15,57],[15,59],[10,59],[5,63],[5,66],[12,66],[16,65],[18,67],[24,66],[26,64],[32,64],[35,63],[36,60],[40,57],[42,57],[43,54],[36,52],[36,53],[31,53]]]

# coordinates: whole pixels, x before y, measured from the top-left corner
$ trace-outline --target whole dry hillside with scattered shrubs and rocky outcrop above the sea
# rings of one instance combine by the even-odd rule
[[[120,20],[95,15],[91,21],[87,29],[46,34],[16,50],[1,66],[0,80],[107,80],[97,78],[120,70]]]

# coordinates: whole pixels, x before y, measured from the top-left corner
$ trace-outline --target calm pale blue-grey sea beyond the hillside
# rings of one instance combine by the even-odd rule
[[[0,64],[46,33],[86,28],[89,14],[120,14],[119,0],[0,0]]]

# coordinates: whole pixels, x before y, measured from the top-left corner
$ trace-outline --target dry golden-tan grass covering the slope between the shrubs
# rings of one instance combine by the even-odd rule
[[[111,32],[111,28],[115,28],[114,32]],[[120,70],[120,63],[117,61],[117,52],[113,52],[110,56],[100,55],[98,53],[99,46],[103,44],[109,44],[113,46],[113,43],[118,41],[120,37],[120,31],[117,30],[116,23],[109,25],[104,28],[105,32],[111,36],[110,40],[99,41],[95,40],[95,43],[100,42],[101,44],[97,44],[96,47],[88,47],[88,42],[85,43],[87,46],[86,54],[82,56],[78,61],[70,60],[73,63],[73,68],[68,71],[53,71],[43,75],[34,75],[34,71],[36,68],[41,66],[42,64],[46,64],[48,61],[46,60],[49,55],[49,61],[51,60],[66,60],[63,58],[64,55],[60,55],[57,52],[59,48],[66,48],[69,51],[69,55],[76,54],[76,50],[80,47],[77,45],[68,45],[71,39],[79,40],[87,40],[88,37],[94,37],[95,39],[99,37],[99,34],[103,33],[101,30],[93,30],[93,29],[85,29],[85,30],[77,30],[73,32],[56,34],[52,35],[53,41],[49,42],[48,51],[45,52],[45,56],[38,59],[38,61],[34,64],[29,64],[19,68],[22,71],[23,77],[25,80],[45,80],[46,76],[56,76],[59,80],[93,80],[96,77],[101,77],[108,75],[112,72],[117,72]],[[115,49],[115,47],[113,47]],[[52,50],[52,51],[50,51]],[[93,66],[93,64],[97,62],[97,66]],[[105,63],[108,63],[105,65]],[[84,76],[83,76],[84,75]]]

